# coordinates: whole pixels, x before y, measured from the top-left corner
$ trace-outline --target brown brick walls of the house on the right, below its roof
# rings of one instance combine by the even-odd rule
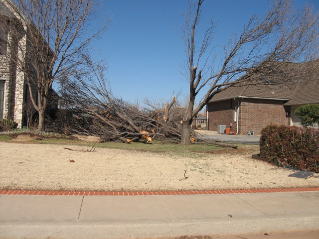
[[[274,100],[242,99],[239,105],[238,133],[247,134],[249,130],[254,130],[255,134],[260,134],[263,127],[271,123],[287,125],[289,119],[286,117],[284,103]],[[236,131],[235,106],[237,102],[234,100],[208,104],[209,130],[216,131],[218,124],[229,127],[233,123],[232,130]]]

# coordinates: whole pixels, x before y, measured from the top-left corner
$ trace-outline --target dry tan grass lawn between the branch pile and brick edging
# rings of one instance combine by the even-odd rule
[[[0,142],[0,189],[159,191],[318,187],[318,178],[251,158],[247,150],[156,153],[52,144]],[[74,160],[74,162],[70,162]],[[186,173],[185,173],[186,171]]]

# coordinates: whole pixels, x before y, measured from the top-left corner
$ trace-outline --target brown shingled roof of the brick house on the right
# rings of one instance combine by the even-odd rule
[[[273,76],[269,75],[267,78],[257,80],[255,84],[252,80],[248,84],[231,86],[214,95],[209,103],[233,98],[283,100],[287,101],[285,105],[319,103],[319,72],[313,71],[316,68],[308,70],[306,64],[304,69],[306,73],[301,74],[301,64],[289,63],[285,67],[274,75],[274,77],[280,76],[285,79],[279,84],[272,84]],[[293,73],[285,74],[285,69],[288,68],[294,69]]]

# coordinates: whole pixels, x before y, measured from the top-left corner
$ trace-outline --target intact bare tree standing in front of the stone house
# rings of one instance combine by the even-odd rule
[[[39,114],[38,130],[44,130],[49,89],[81,67],[82,54],[90,51],[106,24],[97,27],[99,2],[95,0],[14,0],[6,3],[14,10],[8,21],[12,40],[9,46],[20,54],[8,54],[24,73],[29,95]],[[18,43],[17,45],[14,45]],[[33,90],[32,90],[33,89]]]

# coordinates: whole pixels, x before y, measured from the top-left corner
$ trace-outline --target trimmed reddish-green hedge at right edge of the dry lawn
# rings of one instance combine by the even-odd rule
[[[281,164],[319,172],[319,130],[269,125],[260,137],[260,157]]]

